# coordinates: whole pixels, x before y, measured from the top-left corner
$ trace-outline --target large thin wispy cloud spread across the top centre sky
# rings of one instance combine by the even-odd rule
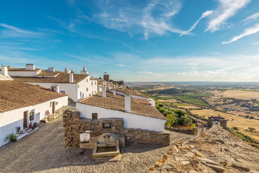
[[[181,34],[181,29],[173,26],[171,17],[181,10],[181,2],[150,1],[145,6],[133,5],[122,1],[117,5],[103,2],[98,4],[99,13],[93,15],[93,20],[108,29],[134,34],[143,34],[147,40],[152,36],[162,36],[167,32]],[[159,12],[155,9],[159,8]],[[158,12],[158,13],[157,13]],[[188,34],[188,33],[186,33]]]

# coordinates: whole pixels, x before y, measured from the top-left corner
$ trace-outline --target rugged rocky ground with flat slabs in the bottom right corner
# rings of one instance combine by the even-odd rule
[[[213,125],[200,137],[176,143],[149,172],[259,172],[259,150]]]

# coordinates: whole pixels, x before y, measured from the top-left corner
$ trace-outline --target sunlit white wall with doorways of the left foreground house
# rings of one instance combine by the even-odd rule
[[[67,96],[49,100],[38,105],[28,106],[25,108],[19,108],[12,111],[7,111],[0,113],[0,146],[4,145],[8,141],[4,142],[4,139],[10,133],[17,134],[17,128],[20,126],[23,129],[23,113],[27,112],[27,127],[30,122],[39,123],[41,119],[45,117],[45,111],[49,110],[50,114],[52,113],[52,107],[50,107],[50,102],[55,102],[57,105],[54,105],[54,111],[61,108],[62,106],[67,105]],[[34,120],[30,121],[29,114],[34,110]]]

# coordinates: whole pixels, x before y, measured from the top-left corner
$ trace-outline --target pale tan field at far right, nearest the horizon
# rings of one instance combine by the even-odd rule
[[[259,100],[259,92],[250,92],[250,91],[240,91],[240,90],[227,90],[222,93],[215,93],[215,96],[223,96],[223,97],[233,97],[236,99],[256,99]]]

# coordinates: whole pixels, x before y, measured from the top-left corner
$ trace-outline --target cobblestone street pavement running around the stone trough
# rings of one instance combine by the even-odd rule
[[[195,136],[170,132],[171,145]],[[0,173],[7,172],[145,172],[166,154],[169,147],[131,145],[118,162],[96,162],[93,150],[78,153],[78,147],[63,146],[62,116],[44,124],[31,135],[0,147]]]

